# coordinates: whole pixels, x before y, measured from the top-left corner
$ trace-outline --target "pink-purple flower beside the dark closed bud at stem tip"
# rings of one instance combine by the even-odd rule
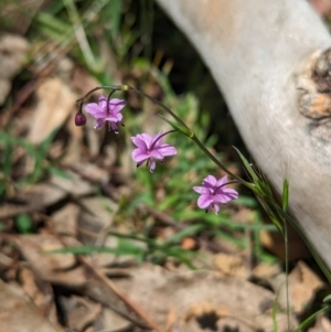
[[[109,100],[107,109],[107,98],[99,96],[98,104],[89,103],[85,106],[85,109],[96,120],[94,128],[99,129],[108,121],[108,130],[117,131],[117,122],[120,122],[122,119],[120,110],[125,105],[125,100],[113,98]]]

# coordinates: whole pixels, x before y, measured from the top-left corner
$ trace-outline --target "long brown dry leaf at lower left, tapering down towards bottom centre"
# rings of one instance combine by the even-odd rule
[[[44,254],[45,249],[63,248],[63,245],[52,235],[6,236],[14,242],[21,254],[29,261],[33,272],[45,281],[60,285],[89,297],[122,314],[138,326],[146,326],[145,322],[129,308],[114,291],[99,281],[93,270],[83,266],[73,266],[71,254]],[[74,238],[64,238],[64,243],[79,245]],[[65,256],[68,256],[65,258]],[[2,331],[0,331],[2,332]]]

